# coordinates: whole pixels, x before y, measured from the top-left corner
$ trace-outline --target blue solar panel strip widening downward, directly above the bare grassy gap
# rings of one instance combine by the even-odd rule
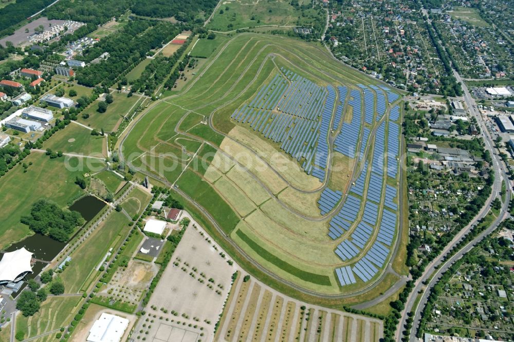
[[[334,149],[347,157],[355,158],[362,120],[361,99],[358,90],[353,89],[350,95],[351,100],[348,101],[348,105],[352,106],[352,122],[343,123],[341,132],[336,137]]]

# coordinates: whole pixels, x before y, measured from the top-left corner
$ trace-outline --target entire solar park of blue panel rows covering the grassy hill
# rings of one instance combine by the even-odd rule
[[[327,175],[330,128],[335,133],[334,151],[362,162],[347,194],[326,186],[317,202],[322,216],[332,216],[327,234],[338,242],[334,253],[341,266],[334,272],[341,287],[355,284],[357,279],[373,279],[394,247],[398,189],[387,184],[387,179],[395,181],[398,176],[400,130],[396,121],[400,112],[398,105],[389,108],[398,98],[386,86],[323,88],[281,68],[248,105],[231,116],[279,143],[280,149],[301,163],[305,173],[320,182]],[[345,106],[352,116],[341,125]],[[366,159],[366,147],[370,145],[373,152]]]

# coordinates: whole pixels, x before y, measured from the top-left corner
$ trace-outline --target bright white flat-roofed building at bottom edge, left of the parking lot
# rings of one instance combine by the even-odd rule
[[[128,328],[130,321],[126,318],[102,313],[89,329],[88,342],[119,342]]]

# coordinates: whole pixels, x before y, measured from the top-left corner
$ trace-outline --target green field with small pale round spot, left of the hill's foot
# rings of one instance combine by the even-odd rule
[[[105,139],[101,136],[92,136],[91,130],[71,123],[49,139],[45,143],[45,148],[84,156],[106,157]]]

